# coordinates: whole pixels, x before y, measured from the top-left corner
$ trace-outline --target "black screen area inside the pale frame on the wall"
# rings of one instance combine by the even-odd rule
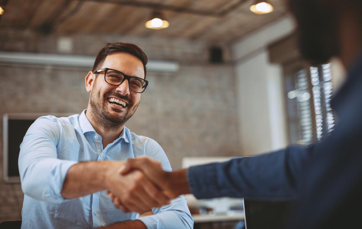
[[[18,177],[20,144],[35,120],[8,120],[8,176]]]

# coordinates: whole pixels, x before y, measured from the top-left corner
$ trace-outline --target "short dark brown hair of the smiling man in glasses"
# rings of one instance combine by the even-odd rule
[[[106,57],[112,53],[129,53],[140,59],[140,61],[143,63],[144,78],[146,79],[147,56],[140,47],[132,43],[123,43],[123,42],[107,43],[99,51],[96,60],[94,61],[92,72],[97,71],[100,68],[100,66],[103,64]]]

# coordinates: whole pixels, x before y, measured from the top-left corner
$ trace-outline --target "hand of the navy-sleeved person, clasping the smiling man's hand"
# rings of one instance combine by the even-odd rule
[[[190,193],[186,169],[167,172],[162,169],[159,162],[148,157],[138,157],[136,159],[127,159],[118,172],[122,175],[127,175],[135,172],[135,170],[142,171],[142,174],[147,176],[152,183],[160,187],[164,195],[170,199],[174,199],[181,194]],[[121,208],[122,210],[123,208],[129,208],[116,193],[111,191],[109,192],[109,196],[116,207]],[[157,206],[153,205],[152,207]]]

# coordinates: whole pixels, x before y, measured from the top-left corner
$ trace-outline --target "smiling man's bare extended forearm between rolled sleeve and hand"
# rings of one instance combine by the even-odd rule
[[[72,199],[108,189],[108,176],[115,174],[122,164],[119,161],[89,161],[71,166],[63,183],[62,196]]]

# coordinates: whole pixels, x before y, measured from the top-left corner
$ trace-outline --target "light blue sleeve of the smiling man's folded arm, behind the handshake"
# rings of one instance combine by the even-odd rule
[[[151,141],[149,146],[147,156],[159,161],[164,170],[172,171],[170,162],[161,146],[155,141]],[[194,226],[194,220],[183,195],[171,200],[170,204],[161,208],[152,208],[152,212],[154,215],[138,218],[148,229],[186,229]]]

